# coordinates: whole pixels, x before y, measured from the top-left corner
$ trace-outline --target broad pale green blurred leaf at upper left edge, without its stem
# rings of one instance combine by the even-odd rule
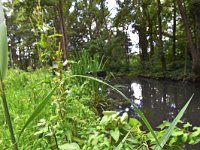
[[[7,28],[2,3],[0,2],[0,79],[6,76],[8,68]]]

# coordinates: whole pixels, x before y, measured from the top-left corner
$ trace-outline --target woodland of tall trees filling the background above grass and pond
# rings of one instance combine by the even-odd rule
[[[178,79],[198,80],[198,1],[15,0],[4,6],[11,67],[51,65],[55,53],[65,61],[87,49],[104,56],[106,70],[135,74],[148,66],[145,76],[179,72]]]

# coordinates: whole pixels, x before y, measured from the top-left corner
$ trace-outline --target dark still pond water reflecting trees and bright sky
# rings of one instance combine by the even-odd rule
[[[172,81],[157,81],[153,79],[117,78],[113,84],[124,85],[121,90],[126,96],[144,112],[153,127],[161,124],[163,120],[172,121],[187,100],[194,93],[189,107],[182,120],[195,126],[200,125],[200,84],[185,84]],[[128,112],[138,117],[133,106],[122,100],[116,93],[111,96],[117,101],[112,106],[119,112]]]

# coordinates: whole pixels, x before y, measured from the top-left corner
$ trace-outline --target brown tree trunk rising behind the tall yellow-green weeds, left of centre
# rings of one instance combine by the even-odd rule
[[[58,16],[59,16],[60,32],[62,34],[61,48],[63,51],[63,59],[66,60],[67,59],[67,49],[68,49],[68,39],[67,39],[66,31],[65,31],[62,0],[58,1]]]

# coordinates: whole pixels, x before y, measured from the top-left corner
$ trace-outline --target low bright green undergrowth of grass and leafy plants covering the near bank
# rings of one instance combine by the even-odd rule
[[[78,84],[78,78],[70,76],[69,71],[63,74],[65,82],[56,89],[41,114],[26,127],[18,139],[20,149],[50,149],[57,146],[61,149],[68,149],[69,146],[76,149],[147,149],[155,146],[151,133],[142,130],[138,120],[128,119],[127,114],[119,116],[116,112],[103,112],[104,117],[99,119],[93,105],[96,100],[93,93],[95,90],[91,90],[91,85],[87,84],[89,81],[85,79],[81,85]],[[59,77],[53,77],[45,70],[9,71],[5,81],[6,94],[17,136],[30,114],[59,82]],[[4,120],[3,115],[0,118]],[[165,121],[159,126],[156,136],[162,137],[169,126],[170,123]],[[189,123],[181,126],[174,129],[165,145],[166,149],[182,147],[185,142],[199,142],[199,127],[191,130]],[[5,127],[3,121],[0,146],[10,149],[8,130]]]

